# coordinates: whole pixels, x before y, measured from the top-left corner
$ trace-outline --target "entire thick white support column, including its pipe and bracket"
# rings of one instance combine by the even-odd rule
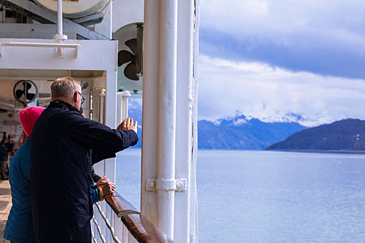
[[[198,5],[145,1],[141,212],[186,243],[197,242]]]

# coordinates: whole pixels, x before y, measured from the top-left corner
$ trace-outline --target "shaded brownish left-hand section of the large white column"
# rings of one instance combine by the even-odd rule
[[[145,0],[143,25],[143,121],[140,210],[153,224],[157,219],[157,194],[147,190],[147,179],[157,178],[159,137],[159,33],[160,0]]]

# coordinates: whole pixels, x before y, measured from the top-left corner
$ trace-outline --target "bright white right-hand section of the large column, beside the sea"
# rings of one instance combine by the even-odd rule
[[[197,31],[196,0],[179,1],[177,45],[176,178],[186,178],[186,190],[175,194],[175,239],[197,241]],[[195,13],[195,14],[194,14]]]

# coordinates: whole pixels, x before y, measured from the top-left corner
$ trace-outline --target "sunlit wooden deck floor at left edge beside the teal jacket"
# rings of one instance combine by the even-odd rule
[[[3,231],[11,208],[9,181],[0,181],[0,243],[10,243],[3,238]]]

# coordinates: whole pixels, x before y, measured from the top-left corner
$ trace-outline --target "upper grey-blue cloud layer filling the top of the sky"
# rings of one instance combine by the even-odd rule
[[[365,78],[365,1],[202,0],[200,51],[294,72]]]

